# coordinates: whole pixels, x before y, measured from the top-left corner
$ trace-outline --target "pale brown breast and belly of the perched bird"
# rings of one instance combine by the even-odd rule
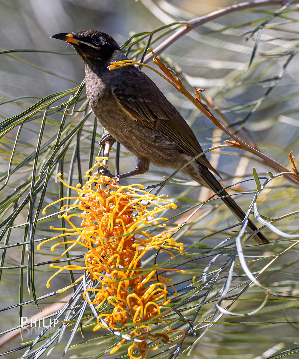
[[[178,168],[181,150],[176,142],[132,117],[112,93],[109,81],[86,73],[89,105],[102,126],[128,151],[156,167]],[[167,165],[165,165],[167,163]]]

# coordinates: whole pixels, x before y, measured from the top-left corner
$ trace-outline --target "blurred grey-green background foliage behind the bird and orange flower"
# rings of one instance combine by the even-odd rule
[[[84,66],[72,47],[66,48],[64,43],[50,37],[60,32],[98,29],[110,34],[120,45],[125,44],[123,51],[129,57],[140,60],[147,47],[154,49],[170,36],[170,29],[181,26],[174,24],[162,29],[164,25],[185,22],[238,3],[240,1],[232,0],[0,1],[1,49],[15,49],[0,54],[0,296],[1,307],[8,308],[0,314],[0,329],[4,334],[12,333],[13,328],[19,326],[20,316],[29,318],[38,313],[34,296],[45,296],[37,300],[44,309],[41,316],[58,311],[53,309],[53,303],[65,303],[69,299],[65,298],[66,293],[55,292],[71,283],[68,275],[55,277],[51,288],[46,288],[47,279],[55,272],[48,266],[53,258],[50,245],[40,252],[34,251],[39,242],[53,235],[50,225],[61,225],[57,219],[60,204],[56,211],[48,211],[46,217],[41,209],[70,194],[57,182],[57,173],[61,172],[70,184],[84,182],[84,173],[99,152],[103,130],[90,113],[84,89],[75,107],[74,103],[61,105],[78,90],[84,78]],[[299,153],[298,4],[284,8],[267,23],[278,9],[279,6],[264,6],[215,18],[179,38],[163,51],[160,59],[176,71],[190,91],[194,85],[206,88],[202,101],[231,131],[291,170],[288,154],[292,151],[298,164]],[[261,32],[257,29],[251,37],[250,32],[265,21]],[[149,37],[154,30],[158,31]],[[139,35],[132,38],[134,34]],[[151,61],[149,64],[152,65]],[[153,71],[143,70],[178,108],[204,149],[228,139],[187,98]],[[66,106],[78,112],[67,111]],[[245,211],[257,190],[252,167],[264,178],[261,183],[269,178],[268,171],[279,172],[234,148],[214,150],[209,159],[221,174],[224,186],[245,180],[230,189],[230,194],[242,193],[236,199]],[[134,163],[134,157],[125,149],[114,149],[109,170],[123,173],[134,168]],[[153,185],[170,174],[151,167],[148,173],[123,183]],[[183,223],[212,195],[180,175],[170,181],[162,193],[178,205],[176,211],[167,213],[169,218],[173,216],[171,223]],[[234,240],[220,245],[233,235],[228,227],[236,224],[221,201],[207,202],[178,232],[185,256],[176,258],[173,265],[180,265],[186,275],[170,275],[179,290],[172,303],[183,316],[192,318],[194,328],[181,343],[182,357],[188,352],[191,358],[298,358],[299,282],[295,242],[298,182],[287,177],[271,180],[258,195],[257,207],[268,219],[281,217],[275,226],[289,234],[286,238],[277,231],[265,229],[263,233],[271,245],[246,243],[243,255],[247,266],[256,276],[262,271],[258,280],[267,289],[251,285],[235,251]],[[30,239],[34,239],[32,247]],[[71,253],[72,256],[82,254]],[[201,281],[202,273],[212,258],[211,266],[206,269],[208,284],[205,284]],[[160,261],[163,262],[163,258]],[[265,306],[245,316],[261,305],[267,292],[270,295]],[[29,303],[19,305],[26,301]],[[222,315],[215,309],[215,303],[243,316]],[[48,306],[50,308],[45,309]],[[85,315],[88,314],[87,311]],[[178,318],[177,325],[186,328]],[[115,356],[103,354],[118,339],[112,334],[107,336],[104,330],[92,332],[93,318],[90,322],[85,320],[83,325],[84,339],[78,332],[66,357],[124,355],[127,358],[126,351],[121,350]],[[34,340],[34,334],[24,333],[24,342]],[[60,357],[69,337],[70,330],[48,358]],[[17,336],[3,338],[0,351],[5,358],[19,358],[28,348],[26,345],[25,349],[19,348],[22,346],[19,331]],[[43,346],[43,341],[38,345]],[[19,350],[8,353],[12,348]],[[167,350],[163,354],[166,358],[173,348],[167,347]],[[31,353],[29,358],[38,357]],[[46,352],[41,355],[45,358]],[[158,355],[164,357],[161,353]]]

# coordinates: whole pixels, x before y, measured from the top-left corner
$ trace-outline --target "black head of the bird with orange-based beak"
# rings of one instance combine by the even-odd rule
[[[109,60],[115,50],[120,50],[116,41],[101,31],[79,31],[70,34],[56,34],[52,38],[71,43],[85,62]]]

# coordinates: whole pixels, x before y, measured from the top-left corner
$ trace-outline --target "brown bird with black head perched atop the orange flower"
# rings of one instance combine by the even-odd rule
[[[177,170],[202,152],[188,123],[149,76],[134,65],[108,69],[111,62],[129,60],[111,36],[88,30],[59,33],[52,38],[70,43],[84,62],[89,105],[108,131],[102,141],[116,140],[137,158],[135,170],[117,175],[118,178],[143,174],[150,164]],[[205,155],[181,171],[183,176],[218,193],[242,222],[245,213],[212,172],[219,176]],[[258,229],[248,219],[246,230]],[[254,233],[252,238],[259,244],[269,243],[261,232]]]

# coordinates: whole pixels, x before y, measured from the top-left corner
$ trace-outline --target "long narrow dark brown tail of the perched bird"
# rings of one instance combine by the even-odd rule
[[[204,172],[204,173],[202,173]],[[232,211],[234,216],[239,220],[243,221],[245,218],[245,213],[243,210],[237,205],[237,203],[228,195],[228,193],[223,189],[219,181],[215,178],[215,176],[206,168],[201,167],[201,176],[198,174],[195,177],[193,177],[193,180],[197,181],[201,185],[204,185],[205,187],[210,188],[215,193],[219,192],[218,196],[227,196],[221,198],[221,200],[226,204],[226,206]],[[204,180],[203,180],[204,178]],[[248,231],[256,231],[257,227],[256,225],[248,219],[247,228]],[[268,239],[261,233],[258,232],[252,236],[252,238],[259,244],[262,243],[269,243]]]

